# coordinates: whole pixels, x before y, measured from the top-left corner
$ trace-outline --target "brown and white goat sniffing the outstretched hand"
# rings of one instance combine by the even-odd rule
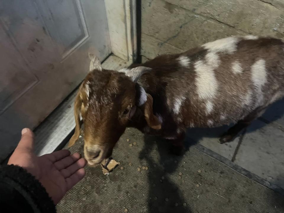
[[[236,123],[231,141],[284,95],[284,43],[275,38],[229,37],[189,51],[162,55],[119,71],[91,57],[75,101],[75,133],[84,122],[84,154],[100,163],[126,127],[180,144],[185,130]]]

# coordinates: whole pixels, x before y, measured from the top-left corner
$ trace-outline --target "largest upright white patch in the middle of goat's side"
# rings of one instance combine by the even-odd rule
[[[202,60],[194,64],[196,72],[197,94],[200,99],[212,99],[216,96],[218,83],[214,70]]]

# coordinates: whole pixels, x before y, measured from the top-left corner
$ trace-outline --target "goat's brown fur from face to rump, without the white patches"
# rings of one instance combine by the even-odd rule
[[[159,56],[144,64],[133,64],[129,69],[138,66],[152,68],[150,72],[143,74],[137,83],[121,72],[93,70],[88,74],[79,91],[82,93],[85,84],[89,84],[89,99],[85,100],[86,97],[83,97],[86,112],[81,111],[85,122],[85,146],[89,147],[89,151],[94,145],[104,146],[107,149],[104,157],[107,157],[127,126],[164,138],[175,138],[175,142],[180,144],[184,139],[186,128],[217,127],[238,122],[225,134],[221,142],[230,141],[269,104],[284,95],[283,42],[274,38],[256,40],[238,38],[236,46],[237,49],[231,53],[226,51],[216,53],[220,61],[217,68],[214,68],[218,89],[214,99],[211,100],[214,107],[209,114],[205,113],[206,100],[198,96],[195,70],[196,62],[205,61],[206,55],[210,53],[205,47],[194,48],[180,54]],[[188,67],[179,63],[180,56],[190,59]],[[251,67],[259,59],[265,60],[267,73],[267,81],[262,87],[261,101],[256,94],[251,75]],[[232,72],[232,63],[236,61],[241,63],[241,74]],[[137,105],[137,84],[147,93],[147,101],[142,106]],[[248,91],[252,93],[250,102],[244,105],[244,97]],[[278,93],[279,97],[272,100],[272,97]],[[77,96],[75,102],[76,129],[70,145],[79,136],[78,108],[81,100],[79,97],[81,96]],[[173,109],[179,97],[184,99],[179,112],[174,113]],[[133,117],[122,116],[125,109],[131,110],[135,105]],[[221,119],[222,115],[224,119]],[[162,119],[162,123],[158,117]],[[209,120],[211,122],[208,122]]]

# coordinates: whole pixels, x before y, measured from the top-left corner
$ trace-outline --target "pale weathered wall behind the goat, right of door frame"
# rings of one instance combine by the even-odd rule
[[[141,0],[142,60],[230,35],[284,38],[283,0]]]

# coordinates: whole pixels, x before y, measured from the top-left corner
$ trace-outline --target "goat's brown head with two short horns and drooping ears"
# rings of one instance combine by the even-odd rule
[[[99,59],[89,54],[90,73],[77,94],[74,114],[75,133],[72,146],[80,135],[80,114],[84,122],[84,155],[89,165],[98,164],[112,154],[112,149],[133,115],[143,112],[147,124],[160,129],[159,119],[153,114],[152,97],[137,80],[148,67],[120,71],[103,70]]]

